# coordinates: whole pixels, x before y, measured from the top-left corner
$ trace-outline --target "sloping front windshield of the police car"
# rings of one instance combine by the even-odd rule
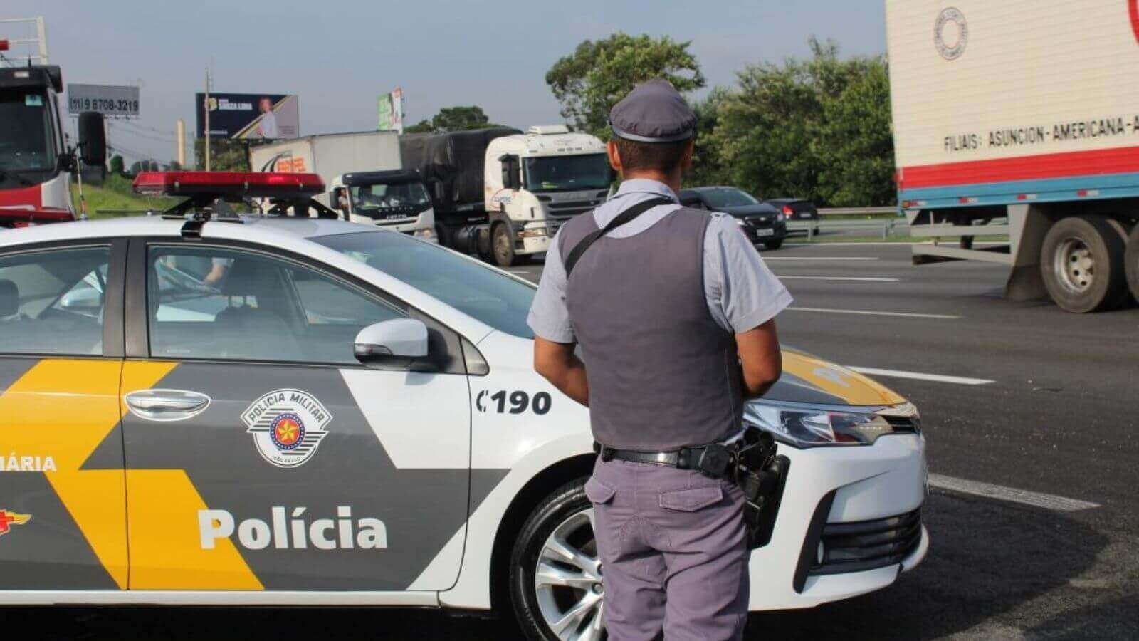
[[[532,339],[526,314],[534,286],[449,250],[393,232],[312,238],[420,290],[507,334]]]

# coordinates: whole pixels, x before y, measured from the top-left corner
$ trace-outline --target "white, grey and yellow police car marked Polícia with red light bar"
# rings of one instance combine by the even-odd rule
[[[329,219],[312,175],[136,188],[186,200],[0,235],[0,602],[493,609],[601,638],[589,414],[532,371],[533,285]],[[746,409],[790,460],[752,609],[885,587],[928,545],[913,406],[784,367]]]

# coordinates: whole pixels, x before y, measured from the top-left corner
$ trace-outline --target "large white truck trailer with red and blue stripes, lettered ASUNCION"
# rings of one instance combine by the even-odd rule
[[[1139,298],[1137,0],[886,0],[886,33],[915,263],[1008,265],[1008,298],[1068,311]]]

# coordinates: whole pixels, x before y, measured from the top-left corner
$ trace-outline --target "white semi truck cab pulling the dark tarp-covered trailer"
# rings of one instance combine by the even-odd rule
[[[491,140],[484,193],[494,262],[544,253],[566,220],[605,202],[613,179],[605,143],[564,124]]]

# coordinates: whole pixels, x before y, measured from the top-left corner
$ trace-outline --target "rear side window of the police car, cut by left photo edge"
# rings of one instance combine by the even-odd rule
[[[0,258],[0,352],[103,354],[109,248]]]

